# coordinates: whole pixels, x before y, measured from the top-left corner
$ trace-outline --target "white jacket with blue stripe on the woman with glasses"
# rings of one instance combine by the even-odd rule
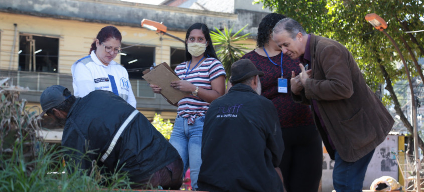
[[[91,51],[90,55],[76,61],[71,71],[75,97],[84,97],[91,91],[101,89],[115,93],[136,108],[128,72],[118,63],[111,61],[105,66]]]

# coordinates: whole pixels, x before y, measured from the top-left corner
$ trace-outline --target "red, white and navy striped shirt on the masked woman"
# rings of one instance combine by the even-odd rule
[[[191,64],[193,65],[193,63]],[[217,77],[224,75],[225,70],[221,62],[215,58],[207,58],[200,66],[193,69],[187,74],[187,62],[183,62],[175,68],[180,79],[187,80],[199,88],[211,90],[211,81]],[[209,108],[209,103],[201,98],[189,95],[178,102],[177,114],[181,117],[188,118],[188,124],[193,124],[194,119],[204,116]]]

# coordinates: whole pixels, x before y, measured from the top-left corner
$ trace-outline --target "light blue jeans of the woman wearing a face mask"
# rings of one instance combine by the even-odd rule
[[[177,116],[169,142],[177,149],[184,163],[184,173],[190,167],[191,187],[197,189],[197,178],[202,164],[202,133],[205,116],[195,119],[193,125],[187,118]]]

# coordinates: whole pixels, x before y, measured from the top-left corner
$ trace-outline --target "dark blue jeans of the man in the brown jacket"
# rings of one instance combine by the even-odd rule
[[[337,192],[362,192],[365,172],[374,154],[371,152],[355,162],[347,162],[340,158],[337,151],[334,154],[333,185]]]

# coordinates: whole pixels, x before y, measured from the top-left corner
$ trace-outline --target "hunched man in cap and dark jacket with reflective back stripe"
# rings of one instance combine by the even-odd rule
[[[119,96],[96,90],[75,98],[67,88],[53,85],[41,94],[40,103],[41,116],[47,113],[65,126],[62,146],[80,152],[69,150],[67,159],[80,168],[91,169],[94,161],[104,167],[102,173],[127,171],[133,188],[180,188],[183,162],[177,150]]]

